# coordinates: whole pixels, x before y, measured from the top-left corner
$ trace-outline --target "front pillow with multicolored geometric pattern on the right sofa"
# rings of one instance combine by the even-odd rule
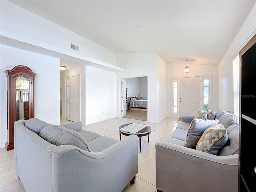
[[[228,141],[228,134],[223,124],[216,124],[207,128],[196,144],[196,150],[217,155]]]

